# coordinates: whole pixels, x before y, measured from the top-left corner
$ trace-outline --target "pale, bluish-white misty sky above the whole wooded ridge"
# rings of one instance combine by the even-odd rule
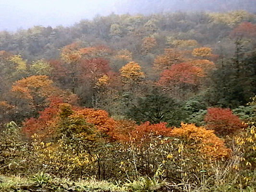
[[[0,0],[0,30],[70,26],[97,14],[175,11],[256,12],[256,0]]]

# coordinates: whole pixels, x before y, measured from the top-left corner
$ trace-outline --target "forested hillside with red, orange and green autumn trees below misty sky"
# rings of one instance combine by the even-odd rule
[[[253,192],[255,121],[256,14],[0,32],[0,190]]]

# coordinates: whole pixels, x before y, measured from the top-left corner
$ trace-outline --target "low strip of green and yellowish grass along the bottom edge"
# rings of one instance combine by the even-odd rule
[[[84,179],[72,181],[68,178],[52,178],[47,173],[32,177],[0,175],[0,192],[255,192],[256,186],[237,189],[231,182],[214,185],[206,180],[199,186],[189,183],[168,183],[156,178],[140,177],[137,180],[119,183],[106,180]]]

